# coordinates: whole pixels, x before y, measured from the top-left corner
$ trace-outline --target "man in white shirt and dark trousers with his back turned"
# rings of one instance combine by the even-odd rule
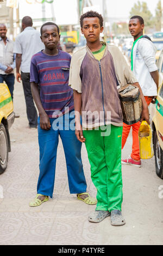
[[[30,89],[30,60],[35,53],[41,51],[44,48],[44,45],[42,44],[40,39],[40,32],[36,31],[32,26],[33,21],[31,17],[23,17],[23,32],[16,37],[14,53],[16,53],[16,80],[17,82],[20,82],[20,80],[22,80],[23,83],[29,127],[36,128],[37,111]]]

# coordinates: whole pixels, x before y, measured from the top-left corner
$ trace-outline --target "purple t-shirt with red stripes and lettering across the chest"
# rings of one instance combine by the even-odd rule
[[[30,82],[40,85],[40,99],[49,118],[74,109],[73,90],[68,86],[71,56],[59,50],[58,55],[36,53],[30,64]]]

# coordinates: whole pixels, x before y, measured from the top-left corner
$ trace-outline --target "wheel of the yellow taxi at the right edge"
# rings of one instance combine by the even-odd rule
[[[156,174],[163,179],[163,151],[160,147],[156,131],[154,132],[154,155]]]

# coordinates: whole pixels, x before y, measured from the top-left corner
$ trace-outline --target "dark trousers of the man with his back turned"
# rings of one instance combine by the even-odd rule
[[[21,72],[24,96],[26,100],[27,118],[30,127],[37,127],[37,111],[34,105],[32,92],[30,89],[30,73]]]

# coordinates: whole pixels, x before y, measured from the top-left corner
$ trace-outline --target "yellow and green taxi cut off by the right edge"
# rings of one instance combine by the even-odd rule
[[[151,104],[153,149],[156,174],[163,179],[163,83],[161,83],[155,104]]]

